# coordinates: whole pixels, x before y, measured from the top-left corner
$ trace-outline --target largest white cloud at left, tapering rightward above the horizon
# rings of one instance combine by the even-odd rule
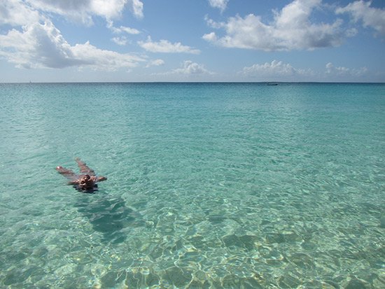
[[[12,29],[0,35],[0,56],[25,68],[56,68],[87,66],[95,70],[113,71],[137,66],[144,59],[136,55],[101,50],[91,45],[69,45],[50,21]]]

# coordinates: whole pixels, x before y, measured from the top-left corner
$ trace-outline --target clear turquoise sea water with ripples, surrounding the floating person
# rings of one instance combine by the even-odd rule
[[[384,288],[385,85],[0,85],[0,288]],[[108,176],[94,195],[55,167]]]

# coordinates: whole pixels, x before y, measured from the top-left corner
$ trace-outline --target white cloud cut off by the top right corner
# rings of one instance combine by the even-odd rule
[[[372,1],[355,1],[344,8],[338,8],[336,13],[349,13],[355,22],[362,21],[364,27],[372,27],[381,36],[385,36],[385,10],[370,7]]]

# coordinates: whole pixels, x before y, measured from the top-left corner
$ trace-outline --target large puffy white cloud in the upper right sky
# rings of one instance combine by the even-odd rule
[[[340,45],[348,36],[342,31],[341,20],[331,24],[311,22],[311,13],[320,5],[321,0],[294,0],[282,10],[274,11],[274,21],[267,24],[253,14],[230,17],[226,23],[208,20],[211,27],[225,29],[225,36],[211,32],[202,38],[227,48],[265,51],[311,50]]]

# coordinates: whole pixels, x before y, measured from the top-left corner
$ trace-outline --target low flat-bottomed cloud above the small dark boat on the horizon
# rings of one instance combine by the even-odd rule
[[[273,60],[272,62],[265,62],[264,64],[253,64],[252,66],[244,67],[241,71],[245,76],[258,77],[276,77],[276,76],[307,76],[311,75],[311,71],[304,69],[295,69],[288,63]]]

